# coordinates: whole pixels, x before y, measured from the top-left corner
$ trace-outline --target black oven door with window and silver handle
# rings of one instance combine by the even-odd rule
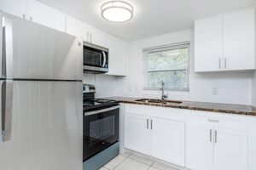
[[[84,113],[84,161],[119,141],[119,105]]]

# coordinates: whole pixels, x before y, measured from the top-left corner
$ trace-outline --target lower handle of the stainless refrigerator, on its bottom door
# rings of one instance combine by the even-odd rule
[[[6,80],[2,83],[2,142],[11,139],[13,116],[14,82]]]

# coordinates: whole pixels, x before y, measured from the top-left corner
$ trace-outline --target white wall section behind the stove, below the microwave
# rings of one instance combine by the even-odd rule
[[[117,77],[103,74],[94,75],[84,73],[83,83],[92,84],[96,87],[97,98],[118,95],[115,90],[117,87]]]

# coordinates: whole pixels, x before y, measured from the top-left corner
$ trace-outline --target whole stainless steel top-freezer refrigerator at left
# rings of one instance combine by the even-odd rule
[[[0,11],[0,169],[82,170],[83,47]]]

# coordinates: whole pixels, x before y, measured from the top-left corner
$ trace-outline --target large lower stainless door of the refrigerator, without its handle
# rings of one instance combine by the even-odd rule
[[[82,170],[82,82],[14,81],[12,134],[0,169]]]

